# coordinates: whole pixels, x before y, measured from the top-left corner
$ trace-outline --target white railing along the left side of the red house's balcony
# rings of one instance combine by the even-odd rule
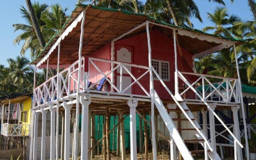
[[[64,98],[66,96],[70,96],[71,94],[75,94],[77,92],[78,84],[78,62],[79,61],[74,62],[68,68],[62,70],[59,74],[56,74],[40,86],[36,87],[34,90],[33,107],[54,101],[57,99],[57,95],[59,95],[59,98]],[[81,68],[82,76],[80,81],[84,81],[84,57],[82,58]],[[59,82],[57,82],[58,79]],[[57,85],[59,86],[58,91]],[[80,88],[81,90],[84,89],[83,82],[80,83]],[[57,92],[59,94],[57,94]]]

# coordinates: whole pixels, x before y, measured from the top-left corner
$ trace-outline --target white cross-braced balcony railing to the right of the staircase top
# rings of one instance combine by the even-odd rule
[[[198,94],[200,94],[200,96],[208,102],[218,101],[240,103],[238,79],[178,71],[178,76],[182,81],[184,81],[183,77],[186,75],[195,76],[197,79],[194,82],[191,82],[191,86],[188,86],[183,92],[181,92],[180,96],[183,96],[186,94],[186,92],[191,91],[192,87],[194,87]],[[210,78],[218,79],[220,82],[212,83]],[[189,99],[186,98],[186,100]],[[197,95],[196,100],[200,100]]]

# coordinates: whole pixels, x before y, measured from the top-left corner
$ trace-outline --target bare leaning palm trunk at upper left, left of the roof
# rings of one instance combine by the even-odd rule
[[[40,46],[42,48],[44,48],[44,46],[45,46],[44,38],[43,38],[42,32],[41,32],[41,30],[39,28],[39,24],[38,24],[38,22],[36,20],[36,15],[35,15],[34,9],[32,7],[31,1],[30,0],[26,0],[26,5],[28,7],[28,12],[29,12],[29,15],[31,17],[33,28],[34,28],[34,30],[36,32],[36,36],[37,36],[37,38],[39,40]]]

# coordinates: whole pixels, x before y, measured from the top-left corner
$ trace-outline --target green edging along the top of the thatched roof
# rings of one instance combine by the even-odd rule
[[[135,16],[144,16],[144,17],[147,17],[149,20],[154,20],[156,21],[157,23],[159,24],[162,24],[162,25],[166,25],[166,26],[170,26],[172,28],[179,28],[179,29],[182,29],[182,30],[188,30],[188,31],[192,31],[192,32],[198,32],[200,34],[205,34],[207,36],[214,36],[214,37],[217,37],[217,38],[223,38],[223,39],[226,39],[226,40],[230,40],[230,41],[234,41],[234,42],[248,42],[250,41],[250,39],[239,39],[239,38],[229,38],[229,37],[224,37],[224,36],[219,36],[219,35],[214,35],[214,34],[210,34],[210,33],[206,33],[206,32],[203,32],[202,30],[198,30],[198,29],[194,29],[194,28],[183,28],[183,27],[180,27],[180,26],[175,26],[173,24],[169,24],[169,23],[166,23],[166,22],[162,22],[160,20],[156,20],[154,19],[153,17],[150,17],[146,14],[143,14],[143,13],[134,13],[134,12],[130,12],[130,11],[127,11],[127,10],[120,10],[120,9],[115,9],[115,8],[102,8],[102,7],[97,7],[97,6],[92,6],[92,5],[87,5],[87,4],[78,4],[76,5],[75,9],[72,11],[71,15],[70,15],[70,18],[68,18],[65,22],[65,24],[62,26],[62,30],[64,30],[64,28],[66,27],[66,25],[68,24],[68,22],[70,21],[70,19],[72,18],[72,14],[75,12],[75,10],[79,7],[79,6],[82,6],[82,7],[91,7],[91,8],[94,8],[94,9],[98,9],[98,10],[105,10],[105,11],[110,11],[110,12],[121,12],[121,13],[124,13],[124,14],[130,14],[130,15],[135,15]],[[36,61],[42,54],[42,52],[44,52],[46,50],[46,48],[50,45],[50,43],[52,42],[52,40],[54,40],[54,38],[56,38],[56,36],[58,36],[58,34],[60,34],[61,31],[59,32],[56,32],[52,38],[50,38],[50,40],[46,43],[46,45],[44,46],[44,48],[39,52],[39,54],[36,56],[36,58],[34,60],[32,60],[31,63],[33,63],[34,61]]]

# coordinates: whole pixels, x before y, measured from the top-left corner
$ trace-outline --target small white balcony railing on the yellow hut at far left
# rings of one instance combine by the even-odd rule
[[[29,136],[30,125],[4,123],[1,127],[1,134],[4,136]]]

